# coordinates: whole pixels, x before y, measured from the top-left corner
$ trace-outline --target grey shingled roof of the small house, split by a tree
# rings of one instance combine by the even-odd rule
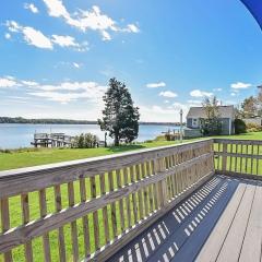
[[[218,106],[218,112],[222,118],[234,118],[234,106]],[[187,118],[206,118],[203,107],[190,107]]]

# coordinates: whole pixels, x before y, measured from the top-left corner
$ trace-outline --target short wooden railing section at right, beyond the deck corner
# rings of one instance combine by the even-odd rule
[[[247,178],[262,176],[262,141],[216,139],[214,154],[217,174]]]

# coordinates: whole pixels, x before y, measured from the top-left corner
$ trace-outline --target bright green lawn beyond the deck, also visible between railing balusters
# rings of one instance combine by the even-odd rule
[[[247,140],[262,140],[262,132],[260,133],[247,133],[241,135],[231,135],[231,136],[217,136],[224,139],[247,139]],[[43,164],[50,164],[50,163],[58,163],[64,160],[73,160],[73,159],[81,159],[94,156],[102,156],[102,155],[111,155],[118,154],[121,152],[127,151],[134,151],[140,148],[150,148],[155,146],[163,146],[163,145],[170,145],[175,144],[176,142],[166,142],[158,139],[157,141],[141,143],[135,145],[127,145],[127,146],[119,146],[119,147],[109,147],[109,148],[92,148],[92,150],[50,150],[50,148],[40,148],[40,150],[17,150],[11,151],[10,153],[0,153],[0,170],[7,170],[12,168],[20,168],[20,167],[28,167],[28,166],[36,166]],[[238,148],[236,147],[236,151]],[[239,166],[239,163],[233,163],[233,166]],[[242,165],[246,165],[243,163]],[[249,163],[247,163],[250,166]],[[105,175],[106,179],[106,191],[108,191],[108,175]],[[114,179],[116,181],[116,179]],[[129,177],[130,182],[130,177]],[[90,179],[85,179],[86,189],[87,189],[87,199],[91,199],[91,182]],[[96,176],[96,184],[97,184],[97,195],[99,195],[99,179]],[[115,183],[115,188],[117,184]],[[40,217],[39,214],[39,199],[38,192],[31,192],[29,196],[29,211],[31,211],[31,221],[37,219]],[[79,181],[74,182],[74,196],[75,203],[80,202],[80,187]],[[46,190],[46,199],[47,199],[47,213],[55,212],[55,194],[53,189],[48,188]],[[62,206],[68,207],[68,186],[61,184],[61,201]],[[11,227],[16,227],[22,224],[22,211],[21,211],[21,200],[20,196],[10,198],[10,217],[11,217]],[[126,210],[126,204],[124,204]],[[126,212],[126,211],[124,211]],[[127,214],[127,213],[126,213]],[[0,216],[1,217],[1,216]],[[110,206],[108,206],[108,217],[110,217]],[[119,205],[117,204],[117,218],[119,219]],[[1,219],[1,218],[0,218]],[[131,217],[133,219],[133,217]],[[94,227],[93,227],[93,216],[92,214],[88,215],[90,227],[91,227],[91,250],[94,251]],[[78,219],[78,236],[79,236],[79,249],[80,249],[80,257],[84,257],[84,241],[83,241],[83,224],[82,219]],[[110,223],[110,218],[109,218]],[[98,224],[103,225],[103,214],[102,211],[98,211]],[[0,221],[1,225],[1,221]],[[71,227],[70,225],[66,225],[63,227],[64,230],[64,239],[66,239],[66,249],[67,249],[67,260],[72,261],[72,245],[71,245]],[[118,221],[118,231],[120,233],[119,228],[119,221]],[[105,236],[103,226],[99,227],[100,233],[100,241],[102,246],[105,243]],[[110,228],[110,236],[112,236],[111,228]],[[49,233],[50,239],[50,247],[51,247],[51,258],[52,261],[59,261],[58,254],[58,234],[57,230]],[[36,238],[33,240],[33,251],[34,251],[34,260],[35,261],[44,261],[43,255],[43,242],[41,238]],[[3,261],[3,258],[0,254],[0,262]],[[24,261],[24,247],[20,246],[13,250],[13,261]]]

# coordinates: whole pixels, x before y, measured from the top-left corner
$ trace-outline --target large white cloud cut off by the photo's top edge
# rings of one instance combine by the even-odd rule
[[[48,13],[53,17],[62,17],[67,24],[74,26],[83,32],[88,29],[100,33],[103,40],[110,40],[110,32],[139,33],[140,29],[134,24],[128,24],[127,27],[118,27],[117,22],[107,14],[102,13],[99,7],[93,5],[91,10],[79,10],[70,14],[61,0],[44,0]]]

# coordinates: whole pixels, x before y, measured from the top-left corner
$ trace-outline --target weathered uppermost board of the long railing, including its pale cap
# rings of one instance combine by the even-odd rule
[[[198,150],[201,148],[206,141],[207,140],[40,167],[0,171],[0,198],[71,182],[79,178],[96,176],[97,174],[138,165],[170,154],[180,154],[190,148]]]

